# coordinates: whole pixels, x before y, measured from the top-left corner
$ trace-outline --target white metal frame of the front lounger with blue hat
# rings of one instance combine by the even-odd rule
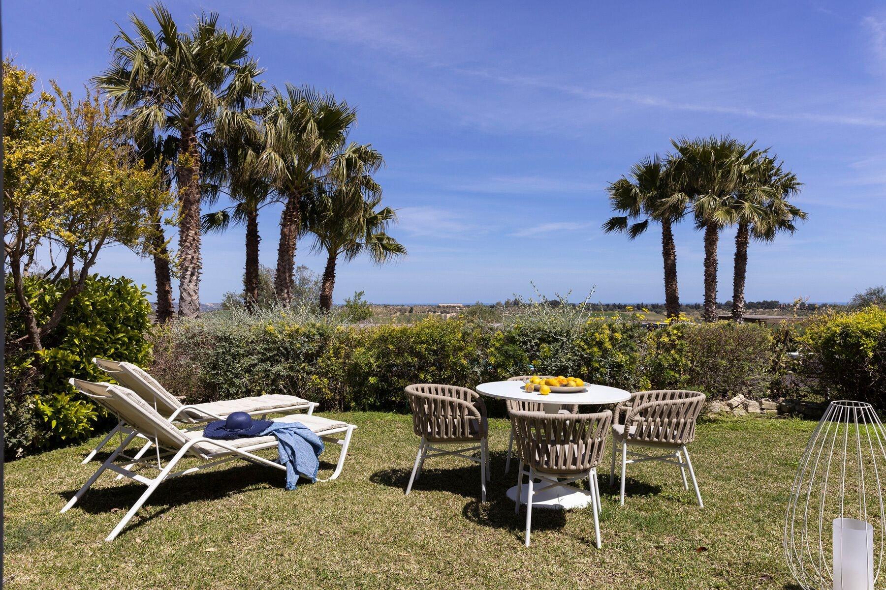
[[[106,383],[89,383],[88,381],[78,381],[78,379],[70,379],[70,382],[74,387],[80,389],[83,395],[89,396],[90,399],[95,402],[101,404],[105,407],[106,410],[115,414],[120,418],[120,422],[124,424],[124,426],[120,429],[120,437],[122,441],[120,441],[120,445],[113,450],[110,456],[105,459],[105,462],[101,464],[101,466],[97,469],[92,476],[86,480],[86,483],[74,494],[74,497],[71,498],[69,502],[66,503],[65,507],[61,510],[61,513],[66,512],[67,510],[71,510],[74,504],[82,498],[84,494],[89,490],[89,487],[92,487],[92,484],[96,482],[98,477],[105,472],[106,470],[116,471],[120,477],[128,477],[129,479],[134,479],[138,483],[144,484],[148,487],[147,490],[144,491],[136,503],[132,505],[132,508],[128,510],[126,515],[120,522],[113,528],[113,531],[105,537],[105,541],[111,541],[117,538],[117,535],[123,530],[123,528],[127,525],[129,520],[132,517],[136,516],[136,512],[144,505],[144,502],[148,500],[149,497],[154,493],[154,490],[159,487],[161,483],[166,481],[167,479],[177,478],[182,475],[187,475],[188,473],[192,473],[195,471],[200,471],[206,469],[207,467],[214,467],[215,465],[228,463],[229,461],[234,461],[237,459],[243,459],[253,464],[263,464],[268,465],[268,467],[273,467],[275,469],[279,469],[281,471],[286,471],[285,465],[275,463],[270,461],[262,456],[255,455],[253,451],[263,450],[266,448],[276,448],[277,442],[267,441],[261,442],[259,444],[253,444],[245,447],[233,447],[229,444],[219,441],[216,439],[207,439],[206,437],[198,437],[194,439],[189,439],[184,441],[181,445],[171,445],[166,442],[160,441],[158,436],[151,436],[150,434],[140,432],[137,428],[137,425],[126,424],[126,420],[120,415],[120,406],[128,406],[128,410],[135,411],[138,414],[141,414],[146,424],[154,423],[156,425],[157,422],[164,422],[165,418],[161,417],[159,414],[156,416],[151,416],[147,411],[142,408],[139,408],[135,403],[130,402],[125,395],[120,395],[118,391],[115,391],[116,386],[106,384]],[[97,393],[97,391],[87,391],[85,387],[89,386],[97,386],[105,388],[105,395]],[[152,410],[150,407],[148,410]],[[172,426],[171,423],[167,423],[167,425]],[[335,441],[339,445],[341,445],[341,453],[338,456],[338,464],[336,465],[335,471],[333,471],[332,475],[329,479],[318,479],[318,481],[332,481],[333,479],[338,479],[339,474],[342,471],[342,467],[345,464],[345,458],[347,456],[347,448],[351,442],[351,435],[354,433],[354,429],[357,426],[355,425],[337,425],[331,427],[327,430],[323,430],[321,432],[316,433],[318,436],[323,437],[328,441]],[[150,430],[150,429],[147,429]],[[177,429],[175,429],[177,430]],[[123,432],[128,432],[127,436],[123,437]],[[157,432],[156,430],[154,431]],[[179,431],[183,432],[183,431]],[[332,435],[338,433],[345,433],[345,438],[343,440],[338,440],[337,437],[333,437]],[[156,448],[155,456],[152,456],[151,460],[144,460],[140,457],[136,456],[127,456],[125,453],[126,448],[129,443],[133,441],[136,437],[143,438],[149,441],[149,443]],[[195,448],[195,445],[200,443],[208,443],[213,447],[221,448],[219,451],[206,452],[204,450],[199,450],[199,448]],[[142,453],[144,453],[146,448],[142,449]],[[201,461],[205,461],[204,464],[199,464],[195,467],[190,467],[188,469],[184,469],[182,471],[173,471],[175,465],[182,460],[184,456],[189,456],[191,458],[198,458]],[[170,458],[171,457],[171,458]],[[123,464],[115,464],[114,461],[118,458],[124,459]],[[163,461],[166,460],[166,465],[163,464]],[[159,471],[159,475],[155,478],[146,478],[143,475],[139,475],[131,471],[131,467],[136,464],[143,465],[152,469],[156,469]]]

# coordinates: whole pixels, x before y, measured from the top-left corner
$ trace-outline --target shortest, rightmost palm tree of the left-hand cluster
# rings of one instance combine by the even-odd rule
[[[339,257],[350,261],[368,254],[372,262],[385,264],[406,254],[399,241],[386,234],[387,226],[397,219],[390,208],[376,209],[381,203],[381,187],[372,173],[382,165],[382,157],[369,145],[350,144],[333,158],[330,178],[316,183],[307,207],[303,229],[314,234],[313,249],[326,254],[320,309],[332,307],[335,269]]]

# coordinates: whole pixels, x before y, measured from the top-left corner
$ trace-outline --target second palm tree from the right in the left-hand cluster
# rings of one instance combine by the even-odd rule
[[[323,176],[333,155],[345,145],[357,111],[334,96],[290,84],[285,93],[277,92],[268,102],[267,111],[263,124],[267,147],[260,159],[284,200],[274,290],[277,299],[288,305],[302,212],[317,177]]]

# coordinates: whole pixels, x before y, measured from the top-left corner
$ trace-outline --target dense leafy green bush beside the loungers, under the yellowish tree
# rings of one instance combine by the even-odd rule
[[[26,287],[28,302],[38,321],[43,322],[65,285],[52,287],[32,277],[27,279]],[[6,293],[7,342],[11,342],[25,334],[25,327],[9,287]],[[102,417],[92,403],[74,394],[67,379],[107,380],[105,373],[92,364],[93,356],[149,363],[151,306],[145,295],[131,280],[90,276],[61,322],[43,339],[43,350],[18,350],[16,364],[12,369],[7,364],[7,393],[12,396],[12,406],[20,411],[27,409],[36,424],[23,415],[14,417],[12,423],[7,420],[7,451],[20,455],[35,447],[82,439],[92,432]]]

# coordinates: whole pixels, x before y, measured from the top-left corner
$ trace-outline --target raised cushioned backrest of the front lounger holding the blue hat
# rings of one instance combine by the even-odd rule
[[[178,449],[188,441],[182,431],[160,416],[141,396],[126,387],[83,379],[69,379],[69,382],[132,430],[156,439],[161,447]]]

